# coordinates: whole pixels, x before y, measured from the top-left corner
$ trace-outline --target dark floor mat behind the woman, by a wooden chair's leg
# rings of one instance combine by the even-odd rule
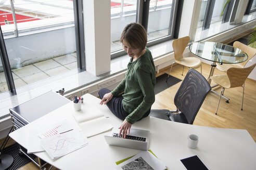
[[[157,94],[157,93],[173,86],[174,84],[182,81],[182,80],[170,75],[169,78],[168,78],[168,81],[166,82],[167,77],[168,77],[168,74],[166,74],[166,73],[157,77],[156,86],[155,86],[155,89],[154,89],[155,94]]]

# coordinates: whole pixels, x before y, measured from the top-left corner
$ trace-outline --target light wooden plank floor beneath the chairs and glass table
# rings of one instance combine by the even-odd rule
[[[184,69],[184,74],[182,76],[182,68],[183,66],[181,65],[174,65],[171,75],[183,80],[188,69]],[[202,75],[207,78],[209,76],[210,69],[210,65],[203,64]],[[200,72],[200,69],[197,70]],[[162,70],[157,76],[164,73],[169,73],[169,68]],[[225,73],[215,69],[214,75],[220,74]],[[156,102],[152,105],[152,108],[176,109],[173,100],[181,83],[182,82],[179,82],[169,89],[158,93],[156,95]],[[214,82],[212,82],[212,84],[214,84]],[[217,92],[221,91],[221,88],[219,87],[213,89]],[[246,129],[254,141],[256,141],[256,81],[251,79],[246,80],[243,110],[241,110],[242,88],[226,89],[224,95],[230,98],[230,101],[229,103],[226,103],[225,100],[222,99],[218,114],[215,115],[219,96],[210,92],[204,100],[194,124],[228,129]],[[39,168],[37,168],[33,163],[29,163],[19,169],[33,170]]]

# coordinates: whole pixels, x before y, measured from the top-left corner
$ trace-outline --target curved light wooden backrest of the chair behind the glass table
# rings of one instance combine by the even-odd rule
[[[246,63],[253,58],[253,56],[256,54],[256,49],[252,48],[250,46],[247,46],[245,44],[240,43],[239,41],[235,41],[233,44],[233,47],[239,48],[242,51],[246,52],[248,55],[248,59],[245,62],[239,63],[242,67],[245,67]]]

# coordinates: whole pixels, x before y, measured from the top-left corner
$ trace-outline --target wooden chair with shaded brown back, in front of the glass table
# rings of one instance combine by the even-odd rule
[[[215,115],[217,115],[217,111],[220,105],[221,96],[224,93],[225,89],[242,87],[242,104],[244,103],[244,93],[245,93],[245,80],[252,72],[253,68],[256,66],[256,63],[246,68],[229,68],[225,75],[217,75],[212,76],[211,79],[219,84],[222,87],[221,95],[219,98],[219,103],[217,105],[217,110]],[[241,107],[242,110],[242,107]]]

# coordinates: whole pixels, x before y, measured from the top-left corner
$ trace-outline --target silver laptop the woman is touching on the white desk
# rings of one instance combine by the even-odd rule
[[[113,128],[109,136],[104,136],[108,145],[148,150],[149,131],[140,129],[130,129],[130,134],[126,138],[119,136],[120,129]]]

